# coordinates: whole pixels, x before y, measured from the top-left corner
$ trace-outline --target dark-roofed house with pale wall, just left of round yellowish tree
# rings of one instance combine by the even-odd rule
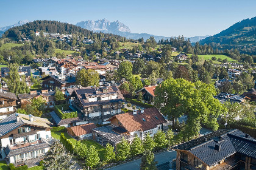
[[[48,90],[58,89],[65,91],[65,89],[73,88],[76,83],[76,77],[74,75],[64,76],[64,75],[48,75],[42,78],[42,87]]]

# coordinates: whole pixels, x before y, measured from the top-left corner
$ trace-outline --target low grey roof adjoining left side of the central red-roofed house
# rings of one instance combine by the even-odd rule
[[[132,138],[133,138],[132,136],[127,135],[127,134],[120,135],[120,134],[114,132],[113,127],[110,125],[95,128],[95,129],[93,129],[93,131],[96,132],[97,134],[103,136],[108,141],[115,143],[115,144],[121,142],[123,138],[126,140],[132,140]]]

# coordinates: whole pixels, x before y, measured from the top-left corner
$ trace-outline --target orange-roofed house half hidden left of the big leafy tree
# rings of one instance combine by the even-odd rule
[[[138,94],[139,92],[142,92],[143,100],[146,103],[154,104],[155,87],[157,87],[157,86],[145,86],[145,87],[143,87],[143,89],[138,90],[138,92],[136,92],[136,94]]]

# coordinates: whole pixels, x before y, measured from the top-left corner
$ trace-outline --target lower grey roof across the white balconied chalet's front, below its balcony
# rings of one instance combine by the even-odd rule
[[[32,152],[32,151],[38,151],[40,149],[44,149],[44,148],[48,148],[48,147],[49,147],[49,143],[46,140],[42,139],[41,143],[26,146],[26,147],[19,148],[19,149],[12,150],[10,148],[10,145],[7,145],[7,147],[5,148],[5,154],[7,155],[7,157],[12,157],[14,155],[24,154],[24,153]]]

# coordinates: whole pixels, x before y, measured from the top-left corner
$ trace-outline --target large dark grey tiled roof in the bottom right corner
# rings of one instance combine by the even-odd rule
[[[207,141],[205,141],[205,138]],[[221,147],[219,151],[215,149],[216,144]],[[236,152],[256,158],[256,140],[249,135],[246,137],[244,132],[237,129],[233,131],[222,129],[212,132],[211,134],[179,144],[173,149],[189,151],[209,166],[215,165],[218,161]]]

